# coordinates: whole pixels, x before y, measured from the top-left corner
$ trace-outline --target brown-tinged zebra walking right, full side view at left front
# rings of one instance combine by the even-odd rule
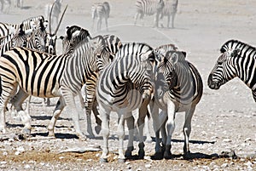
[[[25,127],[23,132],[30,133],[31,117],[22,110],[20,104],[28,95],[37,97],[59,97],[53,117],[48,126],[49,136],[54,136],[56,119],[64,106],[72,113],[74,128],[79,138],[84,134],[79,128],[78,111],[74,96],[79,94],[87,77],[93,71],[101,71],[102,61],[108,61],[109,54],[105,50],[102,36],[90,41],[81,42],[73,50],[73,54],[59,56],[32,50],[30,48],[12,48],[0,58],[0,76],[2,93],[0,97],[1,125],[5,132],[5,106],[19,84],[20,91],[15,94],[13,103],[21,116]],[[107,58],[107,59],[106,59]]]

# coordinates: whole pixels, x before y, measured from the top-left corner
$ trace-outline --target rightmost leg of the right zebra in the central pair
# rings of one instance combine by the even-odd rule
[[[195,106],[191,107],[189,111],[186,111],[185,114],[185,123],[183,126],[183,134],[184,134],[184,146],[183,146],[183,152],[184,157],[189,156],[189,135],[191,133],[191,119],[195,112]]]

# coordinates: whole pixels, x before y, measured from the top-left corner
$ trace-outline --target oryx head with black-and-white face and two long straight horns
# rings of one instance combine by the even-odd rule
[[[67,10],[67,6],[64,9],[62,15],[61,15],[61,20],[58,23],[58,26],[56,27],[54,32],[51,32],[51,15],[52,15],[52,10],[54,7],[55,3],[53,3],[50,13],[49,13],[49,33],[47,33],[47,36],[45,37],[45,48],[46,52],[49,54],[56,54],[56,40],[57,40],[57,31],[59,30],[59,27],[61,26],[61,21],[63,19],[63,16]]]

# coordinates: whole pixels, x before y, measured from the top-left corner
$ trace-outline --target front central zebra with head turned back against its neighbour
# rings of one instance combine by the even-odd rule
[[[100,74],[96,100],[102,118],[101,162],[108,160],[108,136],[110,111],[118,113],[119,162],[125,161],[123,140],[124,123],[127,121],[129,142],[126,154],[133,150],[134,118],[131,111],[139,109],[139,157],[144,156],[143,121],[147,115],[147,105],[153,93],[153,79],[157,60],[154,49],[144,43],[126,43],[119,49],[113,62]],[[131,138],[132,137],[132,138]]]

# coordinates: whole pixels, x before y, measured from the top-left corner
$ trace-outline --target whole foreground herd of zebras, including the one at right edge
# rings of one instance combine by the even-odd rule
[[[96,133],[101,131],[103,137],[101,162],[108,161],[111,111],[118,114],[119,162],[131,157],[136,128],[138,156],[144,157],[143,125],[147,116],[154,125],[154,156],[172,157],[176,112],[182,111],[185,112],[183,153],[184,157],[189,157],[191,119],[203,94],[203,82],[199,71],[186,60],[186,53],[174,44],[153,48],[147,43],[122,43],[115,35],[92,37],[85,28],[67,26],[65,35],[61,36],[62,54],[56,55],[55,37],[61,20],[54,33],[50,29],[51,21],[44,20],[44,16],[29,18],[20,25],[1,23],[0,131],[3,134],[7,131],[5,113],[9,103],[24,124],[22,133],[31,134],[31,116],[22,108],[24,100],[29,96],[58,97],[48,125],[49,136],[55,136],[56,120],[67,107],[76,134],[85,139],[74,100],[79,95],[86,112],[88,134],[91,138],[95,136],[90,118],[93,111]],[[46,31],[48,24],[49,32]],[[232,78],[240,77],[252,89],[256,101],[256,48],[230,40],[220,48],[220,53],[208,77],[209,88],[218,89]],[[137,122],[132,115],[135,110],[138,111]],[[124,153],[125,122],[129,140]]]

